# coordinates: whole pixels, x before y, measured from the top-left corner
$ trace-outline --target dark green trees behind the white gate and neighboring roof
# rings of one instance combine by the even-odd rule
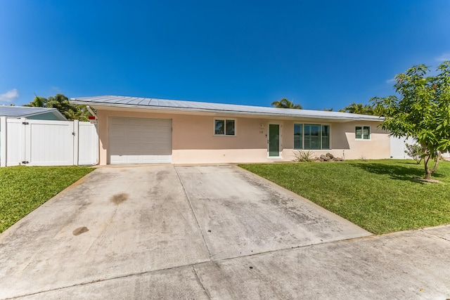
[[[32,102],[23,106],[56,108],[64,117],[80,121],[87,121],[89,116],[86,105],[72,105],[69,103],[69,98],[62,93],[49,98],[35,96]]]

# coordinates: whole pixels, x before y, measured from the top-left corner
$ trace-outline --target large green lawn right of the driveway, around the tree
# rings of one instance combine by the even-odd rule
[[[306,164],[243,164],[243,169],[302,195],[382,234],[450,223],[450,162],[439,162],[432,178],[412,160]]]

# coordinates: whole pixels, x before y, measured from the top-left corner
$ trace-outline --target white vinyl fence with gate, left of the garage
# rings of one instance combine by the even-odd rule
[[[0,167],[98,163],[98,134],[90,122],[0,117]]]

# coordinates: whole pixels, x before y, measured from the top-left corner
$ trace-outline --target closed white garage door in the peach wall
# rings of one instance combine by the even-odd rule
[[[172,120],[110,117],[110,164],[172,162]]]

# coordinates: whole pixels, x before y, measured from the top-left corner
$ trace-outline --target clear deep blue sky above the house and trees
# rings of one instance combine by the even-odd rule
[[[338,110],[450,60],[450,1],[0,0],[0,104],[139,96]]]

